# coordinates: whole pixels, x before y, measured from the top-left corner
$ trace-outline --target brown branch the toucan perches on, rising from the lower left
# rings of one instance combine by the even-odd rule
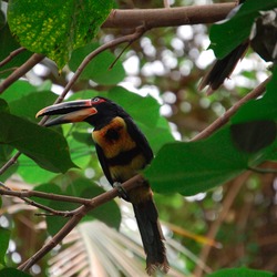
[[[141,175],[136,175],[131,179],[124,182],[122,187],[126,191],[131,188],[137,187],[144,183],[144,178]],[[80,220],[93,208],[96,208],[104,203],[113,199],[119,196],[119,189],[113,188],[106,193],[103,193],[92,199],[86,205],[78,208],[78,213],[73,214],[73,216],[68,220],[68,223],[53,236],[53,238],[44,245],[39,252],[37,252],[31,258],[21,264],[18,269],[28,270],[31,266],[33,266],[38,260],[44,257],[51,249],[53,249],[79,223]]]

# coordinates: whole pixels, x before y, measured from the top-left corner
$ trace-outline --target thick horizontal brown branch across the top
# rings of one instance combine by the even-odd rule
[[[188,6],[171,9],[113,10],[102,28],[132,29],[145,24],[147,29],[152,29],[184,24],[214,23],[225,19],[235,7],[236,2]]]

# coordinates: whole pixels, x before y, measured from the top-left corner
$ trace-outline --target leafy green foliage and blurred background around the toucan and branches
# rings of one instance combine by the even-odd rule
[[[19,47],[28,49],[0,68],[2,82],[33,52],[51,59],[42,60],[0,94],[0,166],[17,151],[23,153],[0,176],[11,189],[88,198],[109,187],[90,126],[81,123],[45,129],[38,125],[35,113],[55,101],[89,53],[114,38],[133,33],[130,29],[100,29],[112,7],[156,9],[163,2],[85,2],[68,1],[65,7],[57,0],[9,1],[7,11],[7,2],[0,1],[0,60]],[[172,2],[174,7],[203,3]],[[269,69],[270,63],[248,49],[218,91],[211,96],[197,91],[212,62],[212,51],[207,51],[209,29],[211,48],[222,58],[249,37],[260,10],[274,8],[276,0],[247,0],[224,24],[152,29],[134,41],[111,69],[125,44],[93,59],[66,96],[106,96],[122,105],[147,136],[156,157],[144,174],[155,192],[164,225],[173,268],[170,276],[273,276],[277,270],[276,174],[261,174],[277,167],[276,69]],[[59,16],[50,22],[57,10]],[[191,141],[270,74],[261,98],[239,107],[207,138]],[[54,209],[76,207],[32,199]],[[38,211],[17,198],[0,198],[0,276],[24,276],[16,271],[17,265],[68,220],[55,216],[44,220],[34,213]],[[237,269],[224,269],[227,267]],[[86,215],[62,248],[57,247],[31,268],[34,276],[65,273],[143,276],[144,254],[126,203],[115,199]]]

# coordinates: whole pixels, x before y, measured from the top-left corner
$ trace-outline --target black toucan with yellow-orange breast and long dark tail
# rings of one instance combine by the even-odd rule
[[[92,138],[98,157],[112,186],[136,175],[153,158],[146,137],[131,115],[109,99],[96,96],[54,104],[39,111],[37,117],[58,114],[61,116],[48,121],[44,125],[88,122],[94,126]],[[152,275],[157,268],[167,273],[170,266],[163,243],[164,236],[148,182],[145,181],[142,186],[124,193],[122,197],[131,202],[134,208],[146,254],[146,273]]]

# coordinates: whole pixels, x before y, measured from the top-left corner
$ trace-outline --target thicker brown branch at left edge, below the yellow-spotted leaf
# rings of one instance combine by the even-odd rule
[[[23,76],[28,71],[30,71],[35,64],[41,62],[44,59],[42,54],[33,54],[24,62],[21,66],[14,70],[1,84],[0,84],[0,94],[8,89],[13,82]]]

